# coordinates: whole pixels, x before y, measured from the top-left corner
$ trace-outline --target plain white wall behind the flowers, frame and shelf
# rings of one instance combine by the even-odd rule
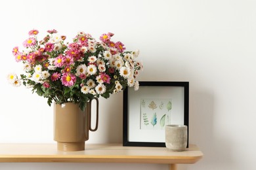
[[[6,75],[12,48],[31,29],[74,37],[115,33],[140,50],[139,80],[190,82],[190,143],[204,157],[181,169],[256,169],[256,1],[129,0],[0,2],[0,143],[54,143],[52,108]],[[122,93],[100,99],[100,126],[88,143],[122,142]],[[0,163],[0,169],[167,169],[167,165]]]

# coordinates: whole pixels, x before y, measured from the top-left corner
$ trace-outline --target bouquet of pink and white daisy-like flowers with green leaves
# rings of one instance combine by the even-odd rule
[[[12,54],[23,64],[24,74],[8,75],[14,86],[24,84],[47,103],[79,103],[84,109],[90,99],[110,97],[129,87],[139,89],[135,80],[143,69],[135,61],[139,50],[125,51],[120,41],[111,40],[113,33],[104,33],[100,41],[90,34],[79,32],[73,42],[65,42],[66,36],[53,29],[39,40],[39,31],[29,31],[23,42],[24,50],[14,47]]]

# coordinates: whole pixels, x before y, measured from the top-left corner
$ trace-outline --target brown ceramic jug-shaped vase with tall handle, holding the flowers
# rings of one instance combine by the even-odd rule
[[[85,150],[89,131],[98,128],[98,99],[96,99],[96,126],[91,128],[91,101],[82,111],[75,103],[54,103],[54,141],[60,151]]]

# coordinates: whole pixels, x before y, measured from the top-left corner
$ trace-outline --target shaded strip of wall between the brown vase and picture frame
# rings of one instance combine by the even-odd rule
[[[100,97],[98,129],[90,133],[88,143],[122,143],[123,139],[123,93],[112,94],[108,99]],[[93,103],[94,104],[94,103]],[[93,107],[93,108],[96,108]],[[92,110],[95,127],[96,111]]]

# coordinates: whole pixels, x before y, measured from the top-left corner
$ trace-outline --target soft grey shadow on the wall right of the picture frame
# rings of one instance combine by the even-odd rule
[[[190,143],[197,144],[203,152],[202,160],[192,166],[195,169],[222,169],[234,162],[229,139],[220,135],[216,127],[215,112],[213,93],[190,90]]]

